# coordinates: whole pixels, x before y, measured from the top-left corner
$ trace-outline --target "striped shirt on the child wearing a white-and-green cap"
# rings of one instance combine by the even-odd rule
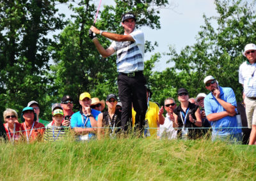
[[[48,126],[45,128],[44,140],[56,141],[61,140],[67,134],[68,127]]]

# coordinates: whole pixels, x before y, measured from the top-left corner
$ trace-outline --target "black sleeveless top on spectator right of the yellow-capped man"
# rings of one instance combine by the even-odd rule
[[[121,127],[121,116],[122,116],[122,112],[116,110],[115,114],[113,115],[112,119],[109,116],[108,111],[103,112],[103,127],[115,127],[115,132],[120,131],[120,129],[116,129],[116,127]]]

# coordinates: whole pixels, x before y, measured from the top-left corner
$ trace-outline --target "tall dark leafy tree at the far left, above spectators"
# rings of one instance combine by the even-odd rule
[[[46,35],[63,29],[57,1],[5,0],[0,3],[0,110],[18,112],[31,99],[44,105],[52,44]],[[63,1],[61,1],[63,2]],[[44,106],[42,106],[44,110]]]

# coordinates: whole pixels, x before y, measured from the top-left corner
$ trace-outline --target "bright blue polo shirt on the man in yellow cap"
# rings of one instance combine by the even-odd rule
[[[93,117],[95,118],[95,120],[98,120],[98,115],[100,114],[100,112],[92,109],[91,113],[92,113]],[[74,127],[92,127],[90,118],[88,118],[87,122],[86,122],[86,119],[87,119],[87,117],[80,110],[79,112],[76,112],[72,115],[72,117],[70,119],[70,126],[72,128],[74,128]],[[84,125],[85,122],[86,122],[86,124]],[[89,133],[89,138],[91,138],[93,135],[94,135],[93,133]]]

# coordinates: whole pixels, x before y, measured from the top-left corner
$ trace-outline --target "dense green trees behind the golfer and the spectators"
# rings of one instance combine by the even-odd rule
[[[56,4],[66,3],[72,19],[58,13]],[[20,110],[33,99],[40,103],[42,119],[51,119],[51,104],[60,102],[64,94],[75,99],[88,91],[105,99],[118,94],[115,55],[106,59],[97,52],[88,37],[98,4],[95,1],[1,1],[0,3],[0,112],[10,107]],[[122,33],[122,13],[133,11],[137,27],[160,29],[159,11],[168,1],[115,1],[104,6],[96,27]],[[204,17],[195,45],[177,52],[170,47],[164,71],[152,71],[161,59],[156,52],[145,60],[148,87],[154,92],[152,101],[163,105],[167,97],[177,97],[177,89],[186,87],[190,96],[207,92],[202,80],[213,75],[223,87],[232,87],[241,100],[242,87],[237,70],[245,58],[241,54],[246,43],[256,38],[255,1],[216,0],[216,17]],[[54,38],[49,34],[61,30]],[[147,32],[145,32],[147,33]],[[110,41],[99,36],[104,47]],[[254,42],[255,43],[255,42]],[[154,51],[156,42],[146,42],[146,53]],[[50,62],[54,62],[51,64]],[[170,66],[170,65],[174,66]],[[1,118],[2,119],[2,118]]]

